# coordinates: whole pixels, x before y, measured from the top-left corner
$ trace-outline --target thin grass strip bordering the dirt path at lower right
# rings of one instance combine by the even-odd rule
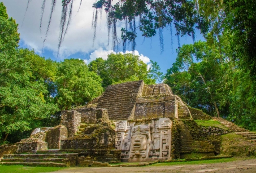
[[[241,158],[241,157],[232,157],[232,158],[221,158],[221,159],[212,159],[212,160],[203,160],[203,161],[188,161],[188,162],[166,162],[166,163],[155,163],[149,166],[171,166],[171,165],[201,165],[201,164],[209,164],[209,163],[225,163],[225,162],[233,162],[237,160],[245,160],[251,159],[252,157]],[[255,157],[254,157],[255,159]]]

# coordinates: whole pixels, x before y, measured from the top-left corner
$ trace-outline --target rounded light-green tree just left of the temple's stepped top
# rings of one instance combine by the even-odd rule
[[[103,91],[101,78],[79,59],[60,62],[55,83],[58,90],[55,99],[61,110],[85,105]]]

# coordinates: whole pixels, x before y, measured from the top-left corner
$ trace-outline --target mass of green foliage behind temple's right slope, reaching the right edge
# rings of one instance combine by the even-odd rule
[[[256,125],[255,81],[232,59],[228,33],[209,33],[206,42],[184,45],[164,81],[191,107],[235,121],[250,130]]]

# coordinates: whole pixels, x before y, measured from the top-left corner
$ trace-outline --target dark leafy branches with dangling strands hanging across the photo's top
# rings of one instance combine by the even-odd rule
[[[57,0],[51,0],[51,12],[46,29],[44,43],[49,32],[51,17],[54,12],[56,1]],[[68,27],[71,23],[73,1],[74,0],[62,0],[62,15],[60,18],[58,54],[62,42],[64,41],[64,38],[68,32]],[[31,0],[28,0],[27,9],[30,2]],[[79,10],[82,2],[83,0],[80,0]],[[40,30],[42,27],[42,17],[44,15],[45,3],[46,0],[43,1],[41,7]],[[127,48],[127,44],[129,43],[131,43],[132,50],[135,50],[137,30],[139,29],[142,33],[141,35],[145,38],[154,37],[157,34],[158,30],[161,52],[164,51],[163,28],[165,28],[167,25],[175,25],[176,36],[179,42],[180,36],[182,37],[185,34],[192,36],[194,40],[194,29],[200,29],[200,27],[203,26],[203,24],[205,23],[202,17],[199,16],[197,12],[197,3],[195,3],[194,1],[120,0],[119,2],[112,5],[112,0],[99,0],[93,3],[93,8],[93,42],[95,41],[97,35],[96,30],[99,15],[98,13],[100,12],[101,16],[102,9],[104,9],[107,14],[107,33],[109,37],[108,45],[111,38],[113,50],[116,50],[119,47],[120,43],[116,31],[116,25],[120,21],[125,21],[125,27],[121,28],[121,39],[123,42],[124,51]],[[197,26],[195,26],[196,24]]]

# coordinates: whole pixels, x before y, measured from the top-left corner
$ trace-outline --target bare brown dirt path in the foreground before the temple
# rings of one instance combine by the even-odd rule
[[[195,164],[195,165],[165,165],[165,166],[146,166],[146,167],[72,167],[65,170],[56,171],[56,173],[117,173],[117,172],[215,172],[215,173],[255,173],[256,159],[244,159],[225,163]],[[52,172],[53,173],[53,172]]]

